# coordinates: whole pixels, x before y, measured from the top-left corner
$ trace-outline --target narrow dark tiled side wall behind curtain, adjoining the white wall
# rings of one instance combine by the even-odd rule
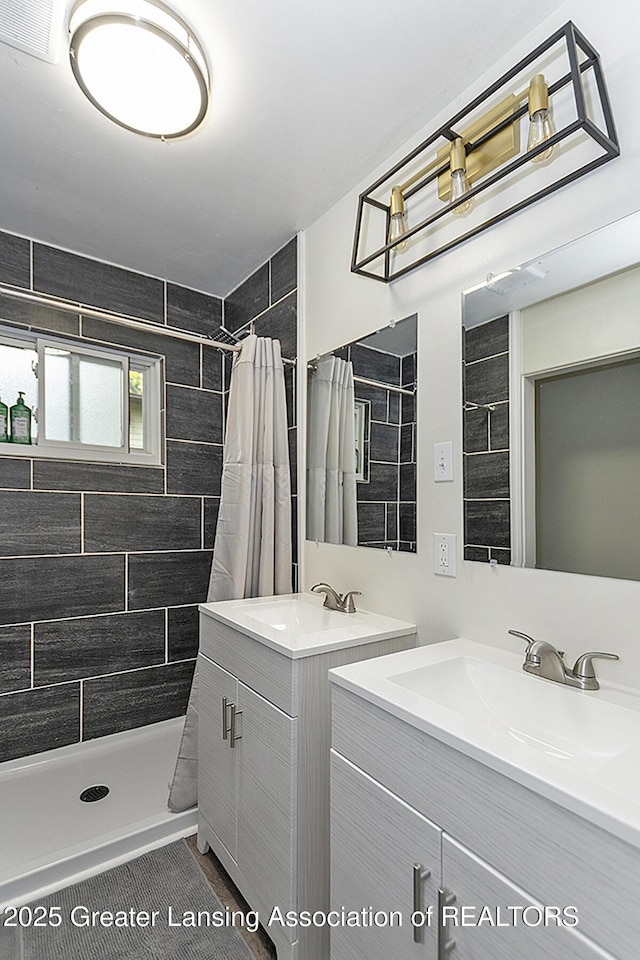
[[[224,302],[224,324],[238,336],[252,332],[280,341],[282,356],[298,356],[298,242],[294,237]],[[229,389],[230,365],[225,363],[225,390]],[[291,532],[293,538],[292,589],[298,589],[297,557],[297,409],[296,368],[285,364],[289,461],[291,464]],[[217,509],[217,508],[216,508]]]

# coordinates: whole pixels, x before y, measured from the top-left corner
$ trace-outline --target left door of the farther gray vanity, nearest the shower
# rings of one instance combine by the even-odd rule
[[[237,681],[201,654],[198,683],[198,808],[235,860],[237,751],[223,737],[222,705],[235,703]]]

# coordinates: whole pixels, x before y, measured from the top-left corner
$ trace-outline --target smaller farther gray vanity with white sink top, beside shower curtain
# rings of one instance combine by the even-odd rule
[[[369,630],[365,614],[320,610],[335,646],[328,628],[301,639],[263,625],[261,637],[255,620],[249,635],[244,614],[268,602],[200,608],[198,847],[213,849],[259,913],[279,960],[329,960],[327,927],[279,919],[329,907],[328,671],[414,646],[415,627],[369,615]],[[307,616],[313,626],[304,608],[298,619]],[[343,636],[359,622],[359,637]]]

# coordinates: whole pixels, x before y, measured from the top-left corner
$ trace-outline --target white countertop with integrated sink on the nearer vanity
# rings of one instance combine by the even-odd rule
[[[576,690],[524,673],[522,662],[521,654],[457,639],[329,676],[640,848],[640,691],[604,682]],[[475,687],[474,673],[482,680]]]

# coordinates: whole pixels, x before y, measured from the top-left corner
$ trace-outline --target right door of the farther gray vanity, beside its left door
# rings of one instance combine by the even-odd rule
[[[240,682],[238,708],[238,865],[264,917],[296,908],[297,720]]]

